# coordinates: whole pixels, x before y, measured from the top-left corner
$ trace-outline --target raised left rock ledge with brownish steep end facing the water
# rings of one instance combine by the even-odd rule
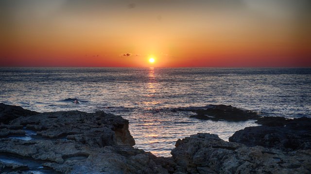
[[[45,112],[11,121],[11,125],[26,126],[45,138],[67,138],[92,147],[134,145],[128,124],[121,116],[81,111]]]

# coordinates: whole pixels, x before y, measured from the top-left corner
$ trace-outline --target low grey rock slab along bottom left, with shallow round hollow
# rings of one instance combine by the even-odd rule
[[[121,151],[131,153],[121,153]],[[64,174],[166,174],[168,171],[154,160],[151,153],[128,145],[90,147],[68,140],[24,141],[2,139],[0,152],[20,158],[43,160],[43,166]]]

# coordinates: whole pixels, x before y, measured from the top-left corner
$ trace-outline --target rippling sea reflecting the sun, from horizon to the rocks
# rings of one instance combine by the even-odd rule
[[[78,100],[80,104],[74,103]],[[170,156],[197,132],[225,141],[254,121],[203,121],[180,107],[232,105],[264,116],[311,116],[311,68],[8,68],[0,102],[39,112],[103,110],[130,121],[135,147]]]

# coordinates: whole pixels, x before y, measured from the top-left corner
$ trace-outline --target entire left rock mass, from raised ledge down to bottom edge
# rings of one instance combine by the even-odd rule
[[[6,105],[5,107],[11,108]],[[17,108],[21,115],[29,111]],[[15,110],[6,110],[17,114]],[[30,112],[37,113],[37,112]],[[135,144],[128,130],[128,120],[103,111],[45,112],[20,116],[0,127],[0,153],[22,160],[40,160],[41,167],[64,174],[168,174],[174,170],[172,158],[157,158],[132,147]],[[33,139],[16,139],[11,135]],[[35,137],[35,138],[34,138]],[[164,167],[162,167],[162,165]],[[0,157],[1,172],[32,173],[30,166],[5,162]],[[40,169],[35,169],[40,170]]]

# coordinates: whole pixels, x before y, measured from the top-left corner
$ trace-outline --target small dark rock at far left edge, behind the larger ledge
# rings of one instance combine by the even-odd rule
[[[38,112],[25,110],[20,106],[12,106],[0,103],[0,123],[8,124],[11,120],[20,116],[35,115]]]

